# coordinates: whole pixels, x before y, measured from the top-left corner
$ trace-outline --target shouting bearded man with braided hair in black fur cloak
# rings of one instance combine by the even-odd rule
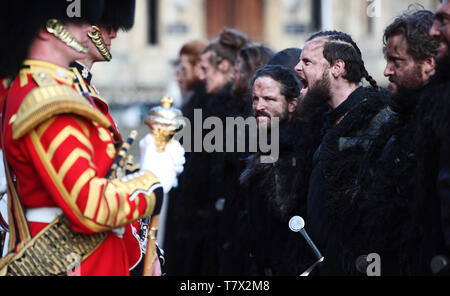
[[[305,229],[325,256],[318,275],[346,275],[354,258],[347,258],[343,227],[361,188],[358,176],[366,156],[389,129],[395,113],[386,95],[367,73],[361,52],[342,32],[319,32],[306,42],[296,71],[305,94],[301,117],[327,103],[324,137],[313,156]],[[360,86],[366,78],[371,87]],[[377,155],[371,155],[377,157]]]

